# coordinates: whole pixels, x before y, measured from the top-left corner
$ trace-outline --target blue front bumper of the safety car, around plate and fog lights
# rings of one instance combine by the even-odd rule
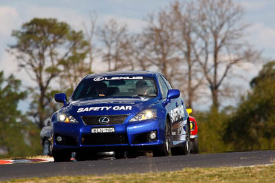
[[[147,120],[119,125],[81,125],[72,123],[54,123],[54,150],[94,149],[96,151],[115,151],[117,149],[152,149],[164,143],[164,129],[161,120]],[[93,127],[115,127],[114,133],[92,134]],[[149,138],[151,132],[157,137]],[[61,142],[56,141],[60,136]]]

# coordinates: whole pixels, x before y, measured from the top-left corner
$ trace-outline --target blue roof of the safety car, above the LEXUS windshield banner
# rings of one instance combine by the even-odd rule
[[[161,74],[159,72],[155,71],[111,71],[111,72],[105,72],[105,73],[94,73],[89,74],[86,76],[86,78],[90,77],[105,77],[105,76],[115,76],[115,75],[144,75],[144,76],[153,76],[156,74]]]

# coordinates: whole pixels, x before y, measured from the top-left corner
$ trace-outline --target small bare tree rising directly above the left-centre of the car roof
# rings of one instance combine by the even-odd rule
[[[98,37],[102,42],[102,61],[107,63],[108,71],[134,69],[133,45],[126,24],[119,25],[110,19],[98,29]]]

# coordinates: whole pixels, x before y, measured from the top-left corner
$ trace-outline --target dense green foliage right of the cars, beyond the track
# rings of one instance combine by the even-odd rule
[[[275,149],[275,61],[250,86],[236,108],[195,114],[201,153]]]

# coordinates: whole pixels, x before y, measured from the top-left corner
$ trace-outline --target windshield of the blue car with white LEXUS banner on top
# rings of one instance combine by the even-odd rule
[[[144,76],[90,77],[78,84],[72,99],[127,96],[157,96],[154,78]]]

